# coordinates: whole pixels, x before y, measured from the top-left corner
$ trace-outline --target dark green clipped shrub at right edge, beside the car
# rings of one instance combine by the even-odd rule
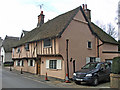
[[[120,74],[120,57],[115,57],[112,63],[112,73]]]

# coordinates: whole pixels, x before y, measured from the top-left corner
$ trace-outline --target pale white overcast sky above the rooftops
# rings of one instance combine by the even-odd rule
[[[22,30],[31,31],[37,26],[41,10],[47,22],[82,4],[87,4],[91,10],[92,22],[103,25],[112,23],[117,31],[115,18],[118,2],[119,0],[0,0],[0,37],[20,37]]]

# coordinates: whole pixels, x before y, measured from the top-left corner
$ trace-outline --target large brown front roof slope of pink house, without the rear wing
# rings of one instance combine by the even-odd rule
[[[33,29],[32,31],[28,32],[20,41],[18,41],[15,46],[20,46],[27,42],[34,42],[45,38],[54,38],[60,36],[65,28],[67,28],[67,25],[72,18],[79,11],[79,8],[80,7],[59,15],[44,23],[41,27]]]

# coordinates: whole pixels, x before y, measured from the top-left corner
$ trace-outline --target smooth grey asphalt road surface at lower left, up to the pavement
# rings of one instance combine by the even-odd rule
[[[49,85],[47,83],[32,80],[23,75],[12,73],[2,68],[2,88],[56,88],[56,87]]]

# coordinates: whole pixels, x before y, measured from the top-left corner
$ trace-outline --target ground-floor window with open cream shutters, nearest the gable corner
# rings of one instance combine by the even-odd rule
[[[46,60],[47,69],[62,69],[61,65],[62,65],[61,60]]]

